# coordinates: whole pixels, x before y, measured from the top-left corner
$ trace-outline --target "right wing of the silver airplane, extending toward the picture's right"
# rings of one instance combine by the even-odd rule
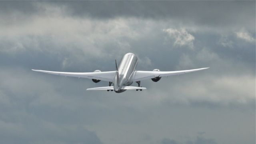
[[[163,76],[173,76],[177,74],[185,74],[187,72],[195,72],[198,70],[205,70],[207,68],[198,68],[194,70],[180,70],[180,71],[170,71],[170,72],[161,72],[161,71],[135,71],[133,81],[141,81],[148,80],[155,77],[163,77]]]

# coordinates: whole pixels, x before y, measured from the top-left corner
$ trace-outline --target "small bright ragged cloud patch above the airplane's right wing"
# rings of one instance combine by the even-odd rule
[[[171,39],[174,39],[174,46],[188,46],[194,48],[194,36],[189,34],[184,28],[177,30],[174,28],[164,29]]]

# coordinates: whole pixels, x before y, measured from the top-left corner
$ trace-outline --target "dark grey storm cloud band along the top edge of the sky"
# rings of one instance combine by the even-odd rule
[[[63,4],[62,2],[54,3]],[[254,1],[69,1],[64,3],[70,10],[70,14],[74,16],[177,18],[220,26],[239,22],[241,18],[248,20],[247,18],[252,17],[255,13],[254,4]]]

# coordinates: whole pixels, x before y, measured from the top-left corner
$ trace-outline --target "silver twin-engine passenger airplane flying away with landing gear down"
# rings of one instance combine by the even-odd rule
[[[116,61],[116,60],[115,60]],[[163,76],[173,76],[184,74],[187,72],[195,72],[198,70],[205,70],[207,68],[198,68],[193,70],[180,70],[180,71],[169,71],[162,72],[158,69],[153,71],[139,71],[136,70],[138,64],[138,58],[133,53],[127,53],[123,56],[119,66],[116,63],[116,70],[109,72],[101,72],[95,70],[94,72],[52,72],[46,70],[34,70],[36,72],[44,72],[48,74],[56,74],[60,76],[72,76],[78,78],[88,78],[93,82],[98,83],[101,80],[109,82],[106,87],[88,88],[86,90],[107,90],[116,93],[121,93],[126,90],[146,90],[146,88],[140,86],[140,81],[151,79],[153,82],[158,82]],[[32,69],[33,70],[33,69]],[[138,84],[136,86],[130,86],[133,82]],[[112,86],[111,86],[112,85]]]

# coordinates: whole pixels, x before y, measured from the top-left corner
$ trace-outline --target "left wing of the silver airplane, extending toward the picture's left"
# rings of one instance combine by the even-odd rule
[[[103,80],[107,82],[113,82],[116,71],[110,72],[52,72],[46,70],[34,70],[36,72],[44,72],[47,74],[56,74],[60,76],[73,76],[78,78],[88,78],[88,79],[96,79]]]

